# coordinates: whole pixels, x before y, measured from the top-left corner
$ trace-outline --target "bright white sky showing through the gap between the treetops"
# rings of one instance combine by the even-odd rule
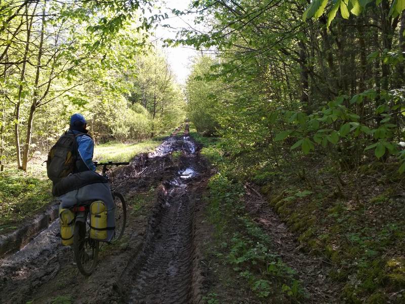
[[[168,39],[176,38],[176,29],[188,28],[188,24],[193,24],[194,15],[186,15],[182,17],[175,16],[170,9],[186,10],[188,8],[190,0],[166,0],[166,5],[163,4],[163,13],[168,13],[169,18],[161,22],[161,24],[169,24],[171,28],[166,28],[158,26],[156,28],[156,38],[158,39]],[[170,9],[168,9],[170,8]],[[172,67],[173,72],[176,74],[178,83],[185,84],[187,76],[190,73],[191,68],[191,58],[198,54],[197,51],[190,47],[176,47],[176,48],[164,48],[169,63]]]

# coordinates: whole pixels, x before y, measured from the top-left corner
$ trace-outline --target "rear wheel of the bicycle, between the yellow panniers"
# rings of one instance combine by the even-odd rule
[[[89,247],[87,252],[86,247]],[[84,276],[90,276],[97,264],[99,241],[91,239],[85,222],[77,221],[74,226],[73,252],[77,268]]]

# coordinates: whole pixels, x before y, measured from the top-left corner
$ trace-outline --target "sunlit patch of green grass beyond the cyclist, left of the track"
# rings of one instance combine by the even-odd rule
[[[141,153],[153,151],[160,143],[161,137],[147,139],[138,143],[107,142],[94,149],[94,160],[99,162],[129,162]]]

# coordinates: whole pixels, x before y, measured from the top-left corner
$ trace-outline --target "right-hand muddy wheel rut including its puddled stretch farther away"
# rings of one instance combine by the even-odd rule
[[[149,218],[143,251],[129,265],[122,285],[129,303],[189,303],[193,296],[193,218],[194,201],[188,184],[190,168],[197,165],[194,143],[183,138],[182,169],[186,178],[173,177],[159,188],[156,205]],[[192,171],[192,170],[191,170]],[[183,173],[184,174],[184,173]]]

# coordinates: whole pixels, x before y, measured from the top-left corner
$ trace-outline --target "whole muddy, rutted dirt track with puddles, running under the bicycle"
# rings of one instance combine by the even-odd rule
[[[55,221],[0,260],[0,302],[201,302],[193,188],[207,174],[207,165],[198,150],[186,129],[113,172],[114,185],[129,205],[127,228],[119,244],[103,245],[92,276],[77,271],[72,250],[60,245]],[[151,192],[144,205],[132,207],[134,198]]]

